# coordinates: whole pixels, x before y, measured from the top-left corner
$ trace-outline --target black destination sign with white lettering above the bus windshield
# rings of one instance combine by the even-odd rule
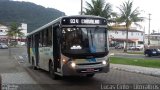
[[[64,18],[63,25],[106,25],[105,19],[97,18]]]

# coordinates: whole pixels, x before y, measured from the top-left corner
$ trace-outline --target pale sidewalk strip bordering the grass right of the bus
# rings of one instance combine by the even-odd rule
[[[141,67],[141,66],[122,65],[122,64],[111,64],[110,67],[112,69],[160,77],[160,69],[159,68],[149,68],[149,67]]]

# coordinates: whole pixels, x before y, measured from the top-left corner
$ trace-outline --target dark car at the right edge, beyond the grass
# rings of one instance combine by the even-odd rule
[[[160,49],[146,49],[144,51],[145,56],[159,56],[160,55]]]

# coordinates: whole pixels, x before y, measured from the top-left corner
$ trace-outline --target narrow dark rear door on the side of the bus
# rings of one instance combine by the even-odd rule
[[[35,35],[35,57],[36,57],[36,66],[39,63],[39,34]]]

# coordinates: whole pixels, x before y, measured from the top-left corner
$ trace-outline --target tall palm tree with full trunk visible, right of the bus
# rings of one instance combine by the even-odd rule
[[[133,2],[127,1],[124,2],[120,7],[118,7],[120,10],[120,17],[117,18],[117,22],[125,23],[126,26],[126,46],[124,49],[124,52],[127,52],[128,47],[128,30],[132,23],[135,25],[140,26],[137,22],[143,21],[143,17],[139,17],[140,11],[138,8],[133,10]]]

